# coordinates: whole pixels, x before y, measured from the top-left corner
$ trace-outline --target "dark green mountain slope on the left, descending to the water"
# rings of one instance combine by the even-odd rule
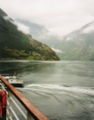
[[[0,58],[59,60],[56,53],[47,45],[38,42],[30,35],[22,33],[13,20],[0,9]]]

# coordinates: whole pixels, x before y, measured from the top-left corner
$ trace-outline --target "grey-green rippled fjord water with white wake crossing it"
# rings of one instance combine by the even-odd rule
[[[50,120],[94,120],[94,62],[0,62],[0,73],[14,72],[24,81],[20,90]]]

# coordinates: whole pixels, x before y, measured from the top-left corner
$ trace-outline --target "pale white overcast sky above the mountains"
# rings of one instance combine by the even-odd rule
[[[59,36],[94,20],[94,0],[0,0],[12,18],[43,25]]]

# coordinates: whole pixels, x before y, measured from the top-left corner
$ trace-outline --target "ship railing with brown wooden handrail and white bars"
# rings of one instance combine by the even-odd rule
[[[6,120],[49,120],[22,92],[0,76],[3,89],[7,92]]]

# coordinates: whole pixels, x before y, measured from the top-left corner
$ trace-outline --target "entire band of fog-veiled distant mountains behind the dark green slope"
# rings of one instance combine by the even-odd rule
[[[30,27],[30,33],[39,41],[49,45],[61,59],[65,60],[94,60],[94,21],[67,34],[64,37],[51,34],[45,27],[20,22]],[[33,31],[33,28],[35,31]],[[42,35],[42,36],[41,36]]]

